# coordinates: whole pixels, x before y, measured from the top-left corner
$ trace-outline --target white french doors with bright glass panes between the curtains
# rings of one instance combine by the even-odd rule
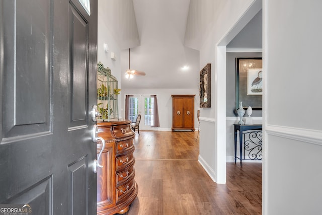
[[[150,95],[134,95],[129,99],[130,120],[135,122],[138,114],[141,114],[140,130],[154,130],[154,98]]]

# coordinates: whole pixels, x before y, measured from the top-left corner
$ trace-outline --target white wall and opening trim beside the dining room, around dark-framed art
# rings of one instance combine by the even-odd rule
[[[203,41],[200,48],[200,68],[206,63],[211,63],[211,108],[200,110],[200,155],[199,162],[205,169],[210,169],[207,172],[217,183],[225,183],[225,161],[226,161],[226,118],[225,118],[225,48],[223,56],[223,48],[217,49],[216,44],[222,41],[229,31],[236,25],[244,13],[255,2],[254,0],[243,1],[223,1],[224,4],[219,4],[219,7],[214,8],[212,13],[218,14],[217,19],[210,26],[208,37]],[[208,4],[208,2],[200,1],[200,4]],[[211,5],[210,5],[211,6]],[[209,6],[209,7],[210,7]],[[207,7],[207,6],[206,6]],[[202,7],[203,8],[203,7]],[[260,9],[259,9],[260,10]],[[259,11],[258,10],[258,11]],[[258,13],[258,11],[249,18],[248,22]],[[246,22],[245,25],[248,23]],[[243,29],[244,26],[239,26]],[[239,32],[239,31],[238,31]],[[236,34],[238,33],[236,32]],[[235,34],[235,35],[236,35]],[[230,40],[235,36],[231,36]],[[226,41],[227,45],[230,40]],[[217,50],[221,50],[217,53]],[[216,56],[218,54],[218,56]],[[220,73],[218,73],[218,63],[216,60],[224,60],[224,65],[221,64]],[[204,120],[205,119],[205,120]],[[212,126],[209,126],[212,123]],[[217,132],[219,135],[217,135]],[[222,138],[223,137],[223,138]],[[219,174],[218,174],[219,173]]]

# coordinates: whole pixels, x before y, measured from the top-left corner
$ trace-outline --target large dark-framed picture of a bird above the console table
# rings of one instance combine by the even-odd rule
[[[249,106],[253,110],[262,110],[262,65],[262,57],[236,57],[236,110],[239,102],[243,102],[245,110]]]

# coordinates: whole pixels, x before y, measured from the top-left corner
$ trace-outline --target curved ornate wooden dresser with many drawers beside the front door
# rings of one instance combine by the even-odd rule
[[[104,138],[105,148],[98,161],[103,168],[97,170],[97,214],[125,213],[137,195],[134,180],[135,133],[131,121],[98,122],[98,136]],[[97,153],[102,150],[98,141]]]

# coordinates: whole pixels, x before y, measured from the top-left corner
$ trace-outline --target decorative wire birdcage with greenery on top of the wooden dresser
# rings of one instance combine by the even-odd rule
[[[99,62],[97,64],[97,107],[98,121],[110,121],[118,119],[118,102],[117,95],[120,89],[117,88],[117,79],[111,75],[109,67]]]

